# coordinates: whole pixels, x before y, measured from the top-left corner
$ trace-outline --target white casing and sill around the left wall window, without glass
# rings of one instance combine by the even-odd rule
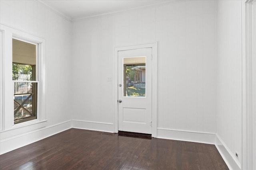
[[[46,126],[46,40],[42,37],[37,37],[30,33],[20,31],[0,24],[2,31],[2,61],[1,61],[1,82],[2,96],[1,104],[2,119],[1,119],[1,139],[11,137],[10,135],[18,135],[26,133],[38,128]],[[12,39],[20,39],[38,44],[38,110],[37,119],[18,123],[14,125],[14,102],[13,102],[13,84],[12,80]],[[2,93],[1,93],[2,94]],[[4,102],[3,102],[4,101]],[[6,133],[7,131],[12,133]]]

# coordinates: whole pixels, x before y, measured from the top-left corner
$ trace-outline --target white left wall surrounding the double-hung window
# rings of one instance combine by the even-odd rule
[[[71,23],[54,14],[40,2],[32,0],[1,0],[0,23],[46,39],[46,119],[48,121],[45,128],[70,121],[74,114],[71,107],[74,100],[71,98],[73,90],[71,89],[72,66],[70,64],[72,60]],[[13,103],[13,101],[5,101],[5,104],[8,103]],[[24,133],[24,138],[22,138],[23,134],[14,136],[12,130],[4,129],[5,132],[0,135],[1,153],[52,135],[64,128],[57,128],[56,131],[47,133],[33,132],[35,135],[31,139],[28,134],[29,131],[32,134],[34,129],[29,129]],[[5,136],[12,136],[12,138],[5,139]],[[16,137],[19,138],[16,139]],[[12,143],[13,139],[19,143]]]

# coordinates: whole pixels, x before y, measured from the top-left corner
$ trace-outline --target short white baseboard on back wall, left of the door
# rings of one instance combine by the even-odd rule
[[[86,129],[86,130],[92,130],[92,131],[102,131],[102,132],[114,133],[114,124],[113,123],[72,120],[72,127],[77,128],[77,129]]]

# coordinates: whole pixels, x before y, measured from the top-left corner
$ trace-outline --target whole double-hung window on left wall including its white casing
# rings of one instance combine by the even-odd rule
[[[45,127],[46,40],[6,25],[0,28],[0,131],[20,134]]]

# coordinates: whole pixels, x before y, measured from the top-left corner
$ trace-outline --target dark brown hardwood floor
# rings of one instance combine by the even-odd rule
[[[69,129],[0,155],[0,169],[227,170],[228,167],[214,145]]]

